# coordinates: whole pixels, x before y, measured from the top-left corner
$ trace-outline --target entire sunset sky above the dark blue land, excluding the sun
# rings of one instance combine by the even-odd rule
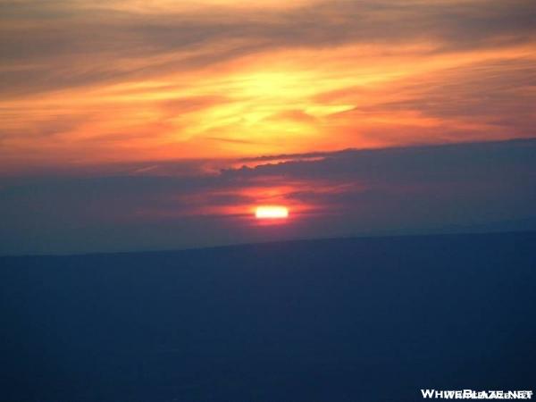
[[[536,217],[532,0],[6,0],[0,92],[2,254]]]

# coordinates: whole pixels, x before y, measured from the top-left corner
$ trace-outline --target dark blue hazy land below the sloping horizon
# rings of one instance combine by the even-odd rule
[[[2,401],[534,389],[536,232],[0,257]]]

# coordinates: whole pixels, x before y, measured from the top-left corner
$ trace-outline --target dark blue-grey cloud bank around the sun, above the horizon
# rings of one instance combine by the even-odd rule
[[[183,162],[154,162],[112,165],[107,173],[4,178],[0,253],[203,247],[529,222],[536,216],[535,151],[536,140],[516,140],[347,150],[314,160],[286,155],[287,162],[218,174],[201,173],[197,165],[197,174],[180,175]],[[280,203],[290,207],[287,224],[255,224],[252,207]]]

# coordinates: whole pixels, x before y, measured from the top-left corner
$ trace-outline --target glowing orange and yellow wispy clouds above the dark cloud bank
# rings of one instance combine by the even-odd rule
[[[9,1],[3,168],[534,136],[531,1]]]

